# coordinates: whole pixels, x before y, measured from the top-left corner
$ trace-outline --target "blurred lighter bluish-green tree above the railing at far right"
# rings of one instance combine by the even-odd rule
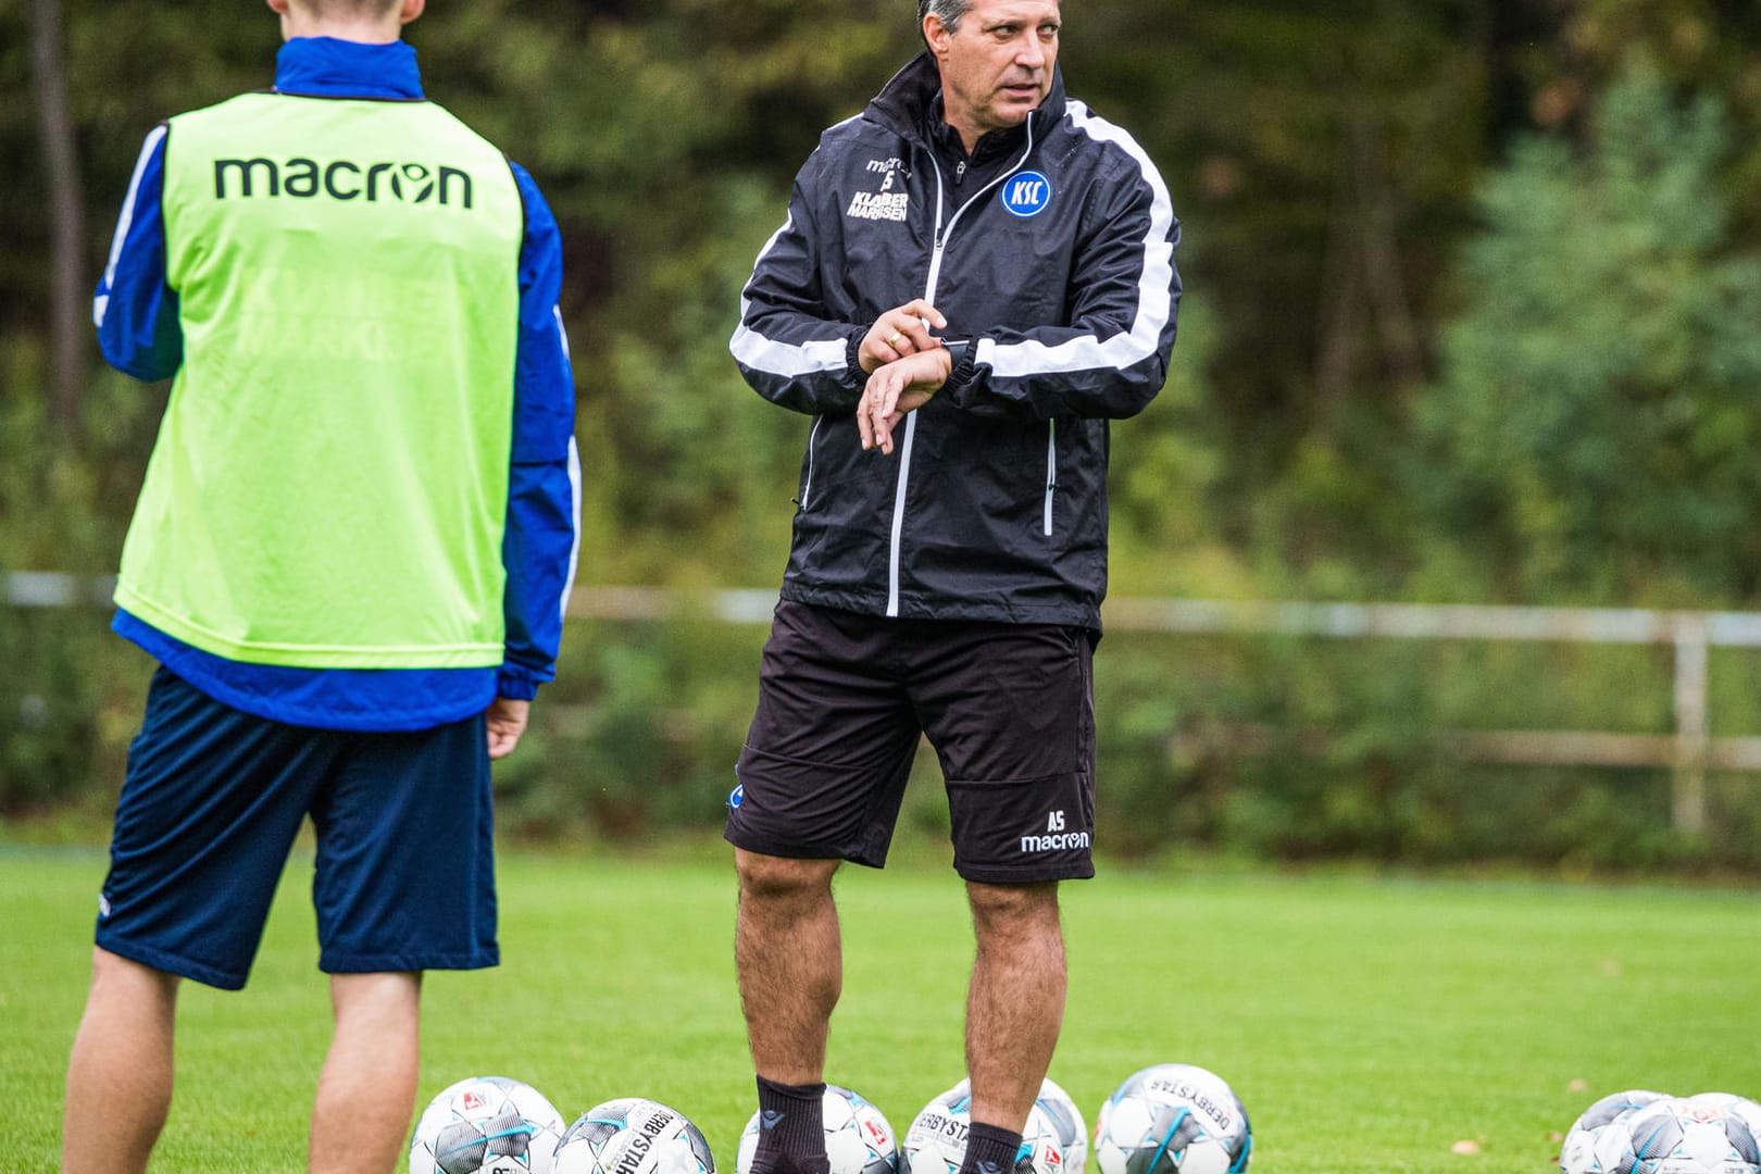
[[[1421,489],[1511,598],[1752,598],[1761,255],[1733,252],[1729,123],[1654,69],[1588,123],[1581,150],[1523,139],[1481,192]]]

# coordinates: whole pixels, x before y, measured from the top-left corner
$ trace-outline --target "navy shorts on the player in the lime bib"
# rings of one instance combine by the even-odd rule
[[[306,729],[164,667],[129,746],[97,943],[239,989],[308,815],[321,970],[497,965],[483,715],[405,734]]]

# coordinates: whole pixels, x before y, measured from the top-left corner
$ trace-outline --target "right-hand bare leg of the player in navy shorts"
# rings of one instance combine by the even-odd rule
[[[402,1165],[421,1061],[419,973],[331,975],[336,1033],[312,1107],[312,1174]]]

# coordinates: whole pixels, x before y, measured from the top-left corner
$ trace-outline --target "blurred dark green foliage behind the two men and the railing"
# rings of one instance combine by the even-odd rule
[[[261,4],[62,0],[95,280],[141,137],[268,84]],[[1067,0],[1069,90],[1160,165],[1187,241],[1162,396],[1113,429],[1115,595],[1761,604],[1761,16],[1712,0]],[[0,0],[0,570],[114,570],[162,387],[48,421],[32,5]],[[819,130],[907,56],[905,0],[474,0],[430,93],[565,236],[586,584],[771,588],[807,419],[726,343]],[[97,366],[93,363],[93,366]],[[0,811],[100,803],[146,660],[100,609],[0,611]],[[504,825],[713,825],[763,632],[574,623]],[[1761,730],[1713,657],[1713,730]],[[1465,766],[1456,729],[1668,732],[1648,649],[1145,639],[1099,658],[1102,834],[1220,850],[1761,868],[1754,780],[1699,841],[1668,778]],[[905,820],[940,833],[925,759]]]

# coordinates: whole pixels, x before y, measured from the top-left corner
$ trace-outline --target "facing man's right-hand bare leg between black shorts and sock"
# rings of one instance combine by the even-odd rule
[[[977,938],[967,996],[972,1121],[1020,1134],[1064,1026],[1058,885],[967,882],[967,899]]]

